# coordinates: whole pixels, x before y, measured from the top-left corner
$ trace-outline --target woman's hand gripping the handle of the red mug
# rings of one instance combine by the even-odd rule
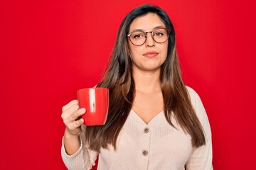
[[[65,132],[68,132],[68,135],[78,136],[82,131],[81,125],[84,123],[84,120],[79,117],[85,114],[85,108],[79,109],[78,100],[73,100],[63,106],[62,111],[61,118],[66,126]]]

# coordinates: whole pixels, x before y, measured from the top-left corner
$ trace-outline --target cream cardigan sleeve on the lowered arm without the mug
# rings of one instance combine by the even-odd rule
[[[188,88],[188,93],[191,96],[191,103],[198,115],[198,119],[203,126],[203,130],[206,136],[206,145],[198,148],[193,148],[191,157],[186,163],[187,170],[213,170],[212,159],[213,159],[213,149],[212,149],[212,138],[210,131],[210,123],[206,115],[206,110],[203,107],[201,98],[196,94],[196,91]]]

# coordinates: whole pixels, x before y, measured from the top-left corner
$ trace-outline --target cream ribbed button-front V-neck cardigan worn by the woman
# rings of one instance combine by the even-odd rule
[[[183,132],[174,118],[173,128],[166,121],[164,111],[156,115],[148,124],[131,111],[117,138],[117,149],[112,146],[100,149],[98,170],[212,170],[212,142],[210,125],[203,103],[193,89],[187,87],[191,103],[201,121],[206,135],[206,145],[193,148],[191,136]],[[65,152],[61,155],[65,166],[70,170],[92,169],[97,152],[87,149],[85,144],[85,126],[80,134],[81,147],[73,155]]]

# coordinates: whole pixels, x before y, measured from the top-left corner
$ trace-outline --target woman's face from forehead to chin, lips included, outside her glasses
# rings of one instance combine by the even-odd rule
[[[148,13],[132,21],[129,33],[134,30],[154,31],[159,27],[166,28],[157,14]],[[161,64],[164,63],[167,57],[168,40],[158,43],[153,40],[151,33],[147,33],[146,42],[143,45],[136,46],[129,41],[129,48],[134,71],[160,71]]]

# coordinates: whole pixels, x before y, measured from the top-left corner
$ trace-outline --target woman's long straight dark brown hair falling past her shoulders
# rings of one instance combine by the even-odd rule
[[[192,138],[193,147],[200,147],[206,143],[203,128],[191,105],[186,86],[181,79],[181,72],[176,52],[176,35],[169,16],[161,8],[143,5],[134,8],[123,19],[119,26],[117,39],[107,69],[97,87],[110,90],[109,115],[105,125],[88,126],[85,137],[90,149],[100,152],[100,147],[113,145],[116,148],[117,137],[122,129],[134,101],[135,84],[132,77],[132,60],[130,59],[127,34],[134,18],[147,13],[156,13],[166,28],[171,30],[168,41],[166,61],[161,65],[161,91],[164,98],[164,114],[171,126],[171,115],[188,132]],[[174,127],[175,128],[175,127]]]

